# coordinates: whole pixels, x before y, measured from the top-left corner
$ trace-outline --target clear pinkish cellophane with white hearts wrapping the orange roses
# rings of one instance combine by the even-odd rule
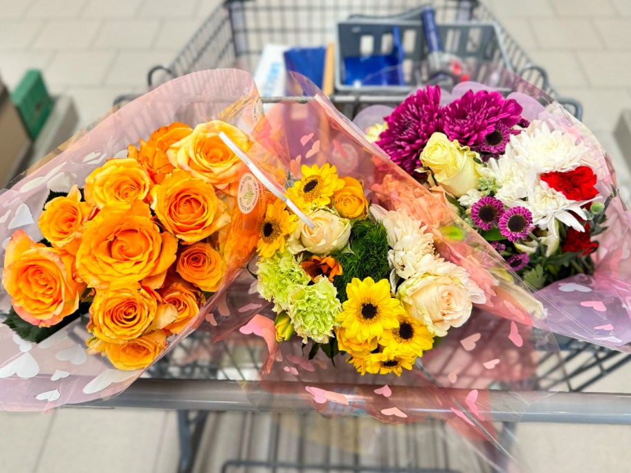
[[[127,145],[147,140],[155,129],[179,121],[194,125],[219,119],[250,133],[262,117],[262,106],[252,77],[243,71],[218,70],[194,73],[158,87],[104,118],[90,131],[80,132],[27,171],[0,194],[0,241],[4,245],[23,229],[35,241],[42,238],[37,219],[49,190],[67,192],[107,158],[125,156]],[[256,152],[256,145],[253,147]],[[246,225],[253,225],[244,219]],[[251,228],[249,229],[251,232]],[[223,290],[240,271],[230,263],[226,282],[192,319],[187,328],[170,339],[170,348],[222,304]],[[225,303],[223,303],[225,306]],[[10,297],[0,290],[0,311],[7,313]],[[223,311],[225,312],[225,310]],[[250,310],[251,312],[251,310]],[[241,316],[251,315],[248,311]],[[224,324],[226,331],[235,323]],[[39,344],[24,342],[0,324],[0,409],[44,411],[60,405],[107,398],[134,382],[143,370],[119,371],[106,358],[87,355],[85,322],[76,320]],[[168,349],[167,349],[168,351]]]

